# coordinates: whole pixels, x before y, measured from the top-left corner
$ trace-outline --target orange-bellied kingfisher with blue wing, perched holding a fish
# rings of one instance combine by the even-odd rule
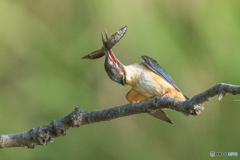
[[[107,33],[105,33],[108,39]],[[169,74],[148,56],[142,56],[143,62],[124,66],[113,54],[107,45],[102,33],[102,41],[105,50],[104,67],[109,78],[123,86],[129,85],[132,89],[127,93],[126,99],[130,103],[138,103],[149,100],[156,96],[171,96],[186,101],[186,97],[178,88]],[[150,115],[173,124],[164,109],[158,109],[149,113]]]

